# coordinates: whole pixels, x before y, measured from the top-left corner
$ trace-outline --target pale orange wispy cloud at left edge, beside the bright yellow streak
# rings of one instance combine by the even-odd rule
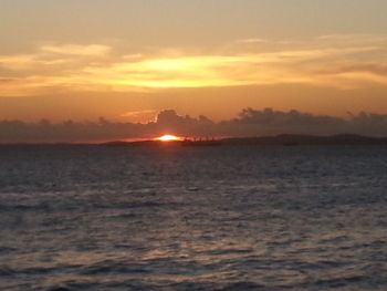
[[[29,96],[63,90],[88,89],[77,76],[83,67],[98,63],[109,46],[90,44],[43,45],[30,54],[0,55],[1,96]]]

